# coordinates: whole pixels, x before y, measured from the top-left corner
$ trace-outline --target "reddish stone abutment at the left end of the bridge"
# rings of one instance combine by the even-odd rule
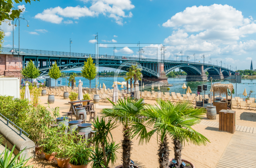
[[[0,54],[2,62],[0,63],[0,75],[21,77],[22,57],[17,55]],[[20,59],[20,62],[19,62]]]

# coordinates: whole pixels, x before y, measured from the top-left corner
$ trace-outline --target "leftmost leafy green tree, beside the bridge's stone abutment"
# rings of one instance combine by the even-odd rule
[[[31,82],[32,82],[32,79],[35,79],[39,76],[40,70],[38,68],[36,68],[33,61],[30,60],[27,64],[27,66],[21,70],[21,74],[22,74],[23,78],[29,78],[29,79],[31,79]]]

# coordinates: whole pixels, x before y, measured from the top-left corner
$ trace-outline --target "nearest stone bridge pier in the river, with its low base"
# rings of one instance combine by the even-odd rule
[[[159,71],[161,72],[160,73],[160,76],[157,78],[157,77],[143,77],[142,79],[142,82],[144,82],[144,84],[150,84],[150,83],[155,83],[155,82],[158,82],[158,83],[168,83],[167,81],[167,77],[166,77],[166,74],[164,72],[164,63],[158,63],[159,67],[157,69],[159,69]]]

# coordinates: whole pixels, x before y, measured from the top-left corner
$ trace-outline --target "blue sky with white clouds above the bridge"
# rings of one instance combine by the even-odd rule
[[[156,1],[156,0],[42,0],[16,4],[27,22],[20,23],[20,48],[95,53],[98,32],[99,54],[194,61],[237,69],[256,67],[256,1]],[[12,47],[12,26],[2,23],[4,47]],[[18,27],[14,30],[18,47]],[[211,58],[211,60],[210,60]],[[100,69],[101,71],[101,69]]]

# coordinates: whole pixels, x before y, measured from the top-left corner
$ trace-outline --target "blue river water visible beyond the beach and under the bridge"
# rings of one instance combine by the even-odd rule
[[[100,84],[101,84],[101,87],[102,87],[103,83],[104,83],[107,86],[107,88],[112,88],[113,81],[119,81],[119,82],[124,81],[123,77],[100,77],[99,79],[97,79],[97,84],[99,82],[98,86],[100,86]],[[83,81],[83,87],[89,88],[89,86],[90,86],[89,81],[83,77],[76,77],[76,86],[78,86],[79,80]],[[193,93],[196,93],[198,85],[206,84],[208,91],[210,90],[210,87],[211,87],[210,81],[209,82],[186,82],[186,78],[168,78],[167,81],[168,81],[168,83],[173,84],[172,87],[169,87],[170,92],[174,91],[174,92],[183,93],[184,89],[181,88],[183,83],[185,83],[187,87],[189,86]],[[219,82],[219,81],[221,83],[229,83],[226,80],[212,80],[212,82]],[[243,84],[243,83],[246,83],[246,84]],[[255,83],[255,85],[254,85],[254,83]],[[129,81],[129,84],[130,84],[130,81]],[[66,85],[65,78],[62,80],[62,85],[64,85],[64,86]],[[242,83],[240,83],[240,84],[237,83],[237,88],[236,88],[235,83],[233,83],[233,85],[234,85],[235,92],[237,92],[237,94],[243,94],[244,88],[246,88],[247,94],[249,93],[250,90],[253,90],[255,92],[252,94],[256,94],[256,88],[255,88],[256,79],[242,79]],[[121,85],[119,85],[119,89],[121,90],[120,87],[121,87]],[[157,89],[157,87],[158,86],[155,86],[154,88]],[[95,88],[95,79],[91,81],[91,88]],[[161,90],[166,90],[167,88],[168,87],[160,87]],[[125,87],[124,87],[124,89],[125,89]],[[145,86],[144,89],[151,89],[151,86],[148,86],[148,87]],[[185,89],[185,92],[186,92],[186,89]],[[205,94],[207,94],[207,91],[205,92]]]

